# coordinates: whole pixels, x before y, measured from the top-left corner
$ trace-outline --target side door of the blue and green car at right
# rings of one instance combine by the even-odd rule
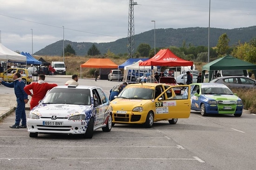
[[[191,100],[191,110],[200,110],[200,95],[201,95],[200,85],[191,86],[190,90],[190,100]]]

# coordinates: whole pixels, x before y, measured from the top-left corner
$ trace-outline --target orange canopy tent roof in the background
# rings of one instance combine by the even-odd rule
[[[89,67],[89,68],[117,68],[118,65],[113,63],[110,59],[89,59],[80,67]]]

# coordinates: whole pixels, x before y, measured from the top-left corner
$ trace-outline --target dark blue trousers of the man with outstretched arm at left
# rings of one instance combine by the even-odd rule
[[[20,119],[21,119],[21,124],[26,125],[27,124],[27,119],[26,119],[26,111],[25,111],[25,102],[24,99],[20,100],[20,98],[17,98],[17,107],[15,110],[15,124],[20,125]]]

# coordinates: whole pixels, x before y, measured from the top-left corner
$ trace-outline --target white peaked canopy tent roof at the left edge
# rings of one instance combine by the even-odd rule
[[[13,52],[0,43],[0,60],[6,62],[26,63],[27,57],[17,52]]]

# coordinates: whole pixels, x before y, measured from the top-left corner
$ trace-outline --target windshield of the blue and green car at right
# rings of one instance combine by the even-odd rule
[[[227,94],[233,95],[234,93],[227,86],[203,86],[202,94]]]

